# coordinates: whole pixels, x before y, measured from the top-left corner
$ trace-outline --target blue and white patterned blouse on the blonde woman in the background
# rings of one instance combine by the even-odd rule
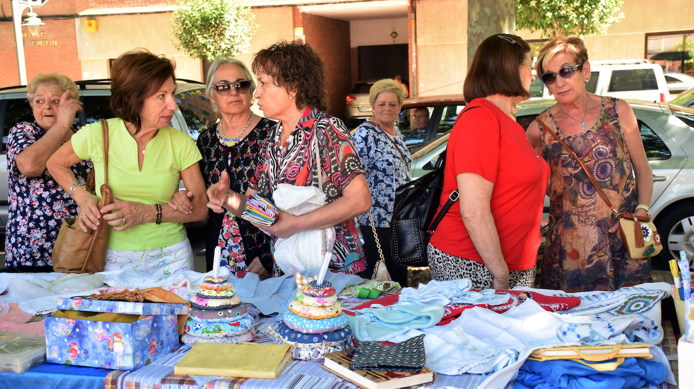
[[[366,182],[369,182],[369,190],[373,198],[371,216],[373,216],[373,223],[376,227],[390,227],[395,190],[400,185],[412,180],[409,175],[412,155],[405,146],[405,140],[400,134],[398,126],[395,127],[395,130],[397,135],[391,137],[366,121],[357,127],[354,135],[352,135],[359,158],[362,159]],[[393,141],[398,145],[397,149],[393,145]],[[400,155],[398,149],[405,155],[407,162],[403,160],[403,155]],[[371,225],[369,214],[357,216],[357,223],[359,225]]]

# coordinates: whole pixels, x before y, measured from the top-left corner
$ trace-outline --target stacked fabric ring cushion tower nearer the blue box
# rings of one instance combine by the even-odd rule
[[[240,343],[253,340],[255,320],[226,277],[205,277],[199,285],[181,337],[183,343]]]

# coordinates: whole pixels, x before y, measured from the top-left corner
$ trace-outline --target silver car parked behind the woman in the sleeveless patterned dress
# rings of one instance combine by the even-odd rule
[[[694,110],[668,103],[628,101],[634,109],[648,162],[653,170],[651,215],[661,234],[663,251],[653,259],[654,268],[667,268],[679,250],[694,258]],[[554,100],[524,101],[517,105],[516,121],[523,128],[556,103]],[[450,98],[449,106],[463,109],[462,96]],[[437,125],[438,123],[434,123]],[[431,171],[446,150],[448,132],[429,141],[412,155],[412,177]],[[549,199],[545,198],[545,219]],[[694,265],[694,260],[691,260]]]

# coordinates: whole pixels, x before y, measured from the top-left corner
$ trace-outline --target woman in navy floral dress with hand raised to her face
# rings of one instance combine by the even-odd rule
[[[53,271],[51,256],[62,219],[74,218],[77,205],[46,171],[46,161],[76,132],[82,110],[78,88],[66,76],[40,74],[26,86],[34,121],[10,128],[7,172],[10,191],[6,266],[22,271]],[[73,166],[81,184],[91,170],[88,161]]]

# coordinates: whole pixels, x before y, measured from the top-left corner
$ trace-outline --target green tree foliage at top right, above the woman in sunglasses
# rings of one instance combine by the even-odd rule
[[[516,28],[543,37],[602,34],[624,18],[623,0],[516,0]]]

